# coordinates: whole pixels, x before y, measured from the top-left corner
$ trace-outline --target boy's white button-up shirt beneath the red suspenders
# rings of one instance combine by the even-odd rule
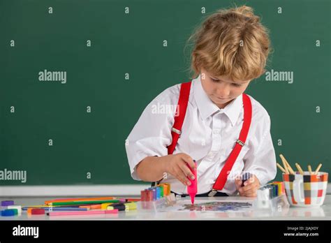
[[[136,165],[147,156],[165,156],[172,142],[171,128],[179,99],[180,84],[165,89],[147,105],[126,140],[126,154],[133,179],[140,180]],[[270,116],[263,106],[251,98],[252,119],[247,140],[237,157],[221,192],[233,195],[235,175],[251,172],[261,186],[274,179],[276,156],[270,135]],[[219,109],[207,96],[198,78],[192,80],[189,104],[182,134],[173,154],[185,153],[198,165],[198,194],[212,190],[226,159],[235,146],[242,129],[244,108],[242,94],[225,108]],[[172,175],[163,182],[171,190],[187,194],[186,186]]]

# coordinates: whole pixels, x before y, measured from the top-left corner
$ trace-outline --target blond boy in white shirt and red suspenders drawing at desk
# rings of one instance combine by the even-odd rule
[[[142,112],[126,140],[131,176],[168,182],[186,195],[193,178],[188,166],[196,167],[197,196],[254,197],[276,175],[270,116],[243,94],[265,72],[267,29],[242,6],[209,16],[191,38],[191,68],[198,77],[165,89]],[[175,125],[178,117],[184,117],[182,126]],[[242,183],[244,172],[251,179]]]

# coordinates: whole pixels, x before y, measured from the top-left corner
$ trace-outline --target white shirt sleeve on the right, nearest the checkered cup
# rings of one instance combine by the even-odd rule
[[[264,186],[276,177],[276,155],[270,134],[270,116],[267,115],[266,126],[259,141],[258,149],[245,159],[244,171],[256,175],[260,186]]]

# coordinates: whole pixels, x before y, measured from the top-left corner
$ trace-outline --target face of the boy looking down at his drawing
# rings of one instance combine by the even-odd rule
[[[230,80],[227,76],[215,77],[201,68],[201,84],[208,97],[220,109],[223,109],[234,98],[244,93],[251,80],[236,81]]]

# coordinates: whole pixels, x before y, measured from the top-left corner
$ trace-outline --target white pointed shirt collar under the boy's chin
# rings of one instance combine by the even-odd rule
[[[193,92],[196,100],[196,105],[201,113],[203,119],[207,119],[209,116],[214,115],[216,112],[223,112],[230,119],[232,126],[237,123],[237,119],[243,108],[242,105],[242,94],[237,98],[233,99],[225,108],[219,109],[205,93],[201,84],[200,76],[193,80]]]

